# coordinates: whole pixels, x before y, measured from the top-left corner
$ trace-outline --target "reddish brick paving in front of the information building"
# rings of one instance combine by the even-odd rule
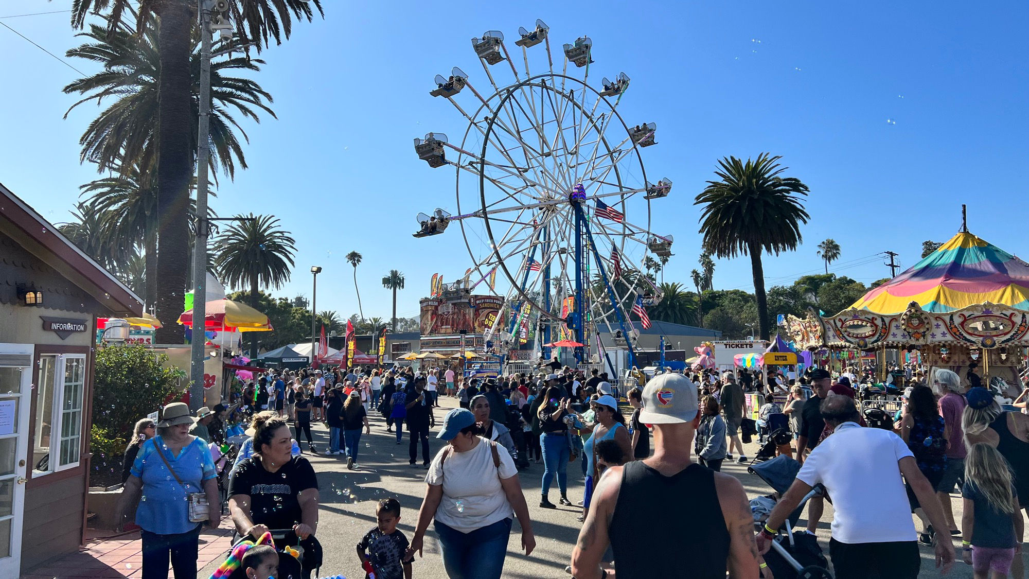
[[[91,530],[92,531],[92,530]],[[108,532],[99,532],[108,533]],[[197,569],[204,569],[213,560],[223,560],[230,546],[232,521],[226,517],[217,531],[206,530],[200,536],[200,557]],[[77,553],[29,570],[22,579],[85,579],[142,576],[143,551],[139,532],[113,539],[94,539]],[[169,577],[174,575],[169,572]]]

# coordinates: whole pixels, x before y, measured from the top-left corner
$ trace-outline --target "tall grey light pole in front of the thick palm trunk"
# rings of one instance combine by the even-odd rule
[[[204,344],[207,341],[207,169],[211,149],[211,10],[213,0],[197,0],[200,12],[200,123],[197,138],[197,236],[193,240],[193,313],[189,350],[189,408],[204,406]]]

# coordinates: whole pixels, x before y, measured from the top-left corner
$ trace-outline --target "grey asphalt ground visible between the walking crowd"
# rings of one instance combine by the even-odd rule
[[[454,398],[441,397],[442,408],[435,409],[436,427],[429,433],[430,459],[443,446],[443,442],[435,438],[442,423],[442,417],[451,408],[457,406]],[[422,456],[418,457],[419,468],[409,467],[407,433],[404,432],[403,443],[396,444],[396,435],[386,432],[386,420],[379,412],[369,413],[371,425],[370,435],[361,435],[358,454],[359,470],[348,471],[344,455],[325,456],[328,448],[328,428],[320,423],[312,427],[315,445],[319,454],[307,452],[306,441],[300,445],[305,449],[305,457],[311,461],[318,474],[321,508],[318,521],[318,539],[324,549],[324,563],[317,577],[334,577],[343,575],[349,579],[361,579],[364,572],[360,568],[356,554],[357,543],[365,533],[376,525],[376,503],[380,499],[394,498],[400,502],[401,518],[398,529],[410,541],[414,536],[418,522],[418,509],[425,496],[425,473],[421,469]],[[757,451],[756,444],[747,445],[748,455],[753,457]],[[419,453],[421,447],[419,446]],[[768,495],[772,489],[756,476],[747,474],[746,465],[730,464],[726,461],[722,472],[740,479],[748,498]],[[582,499],[581,466],[578,461],[568,465],[568,498],[572,503]],[[533,463],[529,469],[520,474],[522,488],[529,505],[533,531],[536,535],[536,549],[526,556],[521,549],[521,527],[516,522],[511,529],[511,537],[507,547],[507,558],[504,563],[505,578],[568,578],[565,567],[570,565],[572,547],[578,537],[581,523],[575,520],[579,513],[578,507],[562,507],[557,509],[539,508],[539,488],[543,474],[543,465]],[[551,489],[551,502],[557,504],[559,492],[557,481]],[[696,500],[685,498],[687,501]],[[960,500],[954,501],[954,514],[960,521]],[[655,501],[654,509],[661,508]],[[805,512],[807,515],[807,512]],[[832,507],[826,503],[825,512],[818,530],[818,540],[826,558],[828,558],[829,523],[832,521]],[[801,524],[806,519],[802,517]],[[688,524],[688,521],[683,521]],[[916,529],[921,529],[916,521]],[[646,533],[657,530],[641,529],[640,539],[646,542]],[[960,545],[960,542],[956,542]],[[935,569],[932,549],[920,546],[922,568],[919,577],[943,577]],[[669,553],[655,553],[654,556],[674,556]],[[208,565],[199,577],[210,577],[220,561]],[[682,560],[682,577],[688,577],[688,560]],[[615,564],[617,569],[617,564]],[[424,555],[415,555],[414,577],[417,579],[445,579],[439,545],[435,539],[432,525],[425,535]],[[971,577],[970,566],[960,563],[946,577]],[[781,579],[781,578],[777,578]]]

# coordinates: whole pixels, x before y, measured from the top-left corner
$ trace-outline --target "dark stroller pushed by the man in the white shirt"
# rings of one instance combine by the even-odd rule
[[[775,458],[761,463],[752,464],[747,468],[747,472],[757,475],[768,483],[781,497],[789,485],[796,478],[796,473],[801,470],[801,464],[789,456],[776,456]],[[832,579],[828,572],[828,561],[822,554],[818,540],[807,533],[793,533],[797,519],[804,511],[804,506],[808,500],[814,497],[821,485],[812,489],[807,497],[801,501],[796,509],[786,517],[782,529],[778,530],[776,538],[772,541],[772,549],[765,554],[765,563],[768,564],[772,573],[777,579]],[[755,520],[754,525],[764,525],[768,514]]]

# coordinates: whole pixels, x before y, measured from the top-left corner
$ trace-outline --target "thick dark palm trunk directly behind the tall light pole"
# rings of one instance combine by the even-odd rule
[[[189,177],[193,155],[190,135],[196,129],[192,115],[189,33],[192,28],[189,2],[161,4],[161,104],[157,109],[157,214],[161,229],[156,279],[158,319],[175,319],[182,311],[183,292],[189,256],[188,208]],[[200,299],[204,299],[201,297]],[[157,330],[157,341],[182,343],[183,327],[165,323]],[[201,333],[203,336],[203,331]]]

